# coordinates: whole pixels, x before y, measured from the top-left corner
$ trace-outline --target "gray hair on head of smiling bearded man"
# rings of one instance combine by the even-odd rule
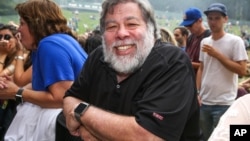
[[[105,31],[105,18],[107,13],[112,13],[114,11],[114,6],[119,3],[134,2],[137,3],[142,11],[144,21],[154,26],[154,37],[155,39],[160,38],[159,31],[157,29],[156,20],[154,17],[154,11],[148,0],[104,0],[102,3],[102,12],[100,18],[100,31],[101,34]]]

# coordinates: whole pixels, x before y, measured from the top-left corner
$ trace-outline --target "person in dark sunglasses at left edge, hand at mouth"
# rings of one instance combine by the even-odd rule
[[[13,25],[0,26],[0,76],[13,76],[18,45],[15,38],[17,33],[17,28]],[[0,100],[0,140],[15,116],[16,105],[14,100]]]

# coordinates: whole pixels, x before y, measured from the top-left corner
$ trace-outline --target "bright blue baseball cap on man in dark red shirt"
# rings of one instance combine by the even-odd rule
[[[182,26],[191,25],[194,22],[196,22],[198,19],[200,19],[201,17],[202,17],[201,12],[198,8],[195,8],[195,7],[188,8],[185,11],[185,14],[183,16],[183,21],[180,25]]]

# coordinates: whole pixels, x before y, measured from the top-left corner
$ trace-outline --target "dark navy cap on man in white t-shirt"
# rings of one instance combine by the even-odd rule
[[[209,12],[220,12],[224,16],[227,16],[227,7],[222,3],[213,3],[204,11],[204,14],[207,15]]]

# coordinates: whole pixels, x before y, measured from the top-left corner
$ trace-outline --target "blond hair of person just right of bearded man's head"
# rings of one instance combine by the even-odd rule
[[[177,41],[174,38],[174,35],[171,31],[166,28],[160,28],[161,41],[165,43],[171,43],[177,46]]]

